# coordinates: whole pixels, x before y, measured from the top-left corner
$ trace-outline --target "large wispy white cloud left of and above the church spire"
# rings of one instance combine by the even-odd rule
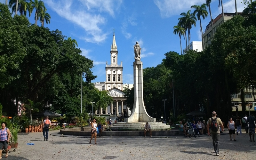
[[[74,25],[84,29],[86,35],[81,35],[80,39],[84,39],[86,42],[91,43],[100,43],[101,41],[104,41],[108,34],[103,33],[100,27],[106,24],[107,19],[105,17],[107,15],[100,15],[95,12],[107,12],[114,16],[113,8],[118,8],[122,1],[116,1],[116,3],[113,3],[109,0],[80,0],[80,2],[81,3],[78,4],[77,1],[72,0],[45,0],[45,4],[47,4],[60,17],[65,18],[71,23],[74,23]],[[85,10],[84,7],[87,7],[88,10]]]

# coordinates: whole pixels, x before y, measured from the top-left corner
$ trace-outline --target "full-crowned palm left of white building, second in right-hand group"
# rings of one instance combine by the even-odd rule
[[[196,27],[196,17],[195,15],[192,13],[190,14],[190,10],[185,13],[180,13],[181,16],[183,17],[180,17],[179,18],[179,25],[183,28],[185,28],[185,30],[188,30],[188,45],[189,45],[189,41],[190,41],[190,29],[192,28],[192,25],[194,25]],[[187,44],[187,35],[185,33],[185,37],[186,37],[186,44]],[[188,51],[188,48],[190,47],[190,45],[188,46],[187,45],[187,51]]]

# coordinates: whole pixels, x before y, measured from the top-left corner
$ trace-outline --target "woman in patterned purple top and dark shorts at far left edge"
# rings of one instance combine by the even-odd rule
[[[4,150],[6,152],[5,158],[8,157],[8,148],[7,143],[9,143],[11,137],[11,132],[8,128],[6,128],[6,122],[2,123],[2,129],[0,130],[0,159],[2,159],[2,148],[4,145]]]

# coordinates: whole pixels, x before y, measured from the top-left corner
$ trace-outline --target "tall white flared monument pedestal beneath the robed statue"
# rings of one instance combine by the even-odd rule
[[[134,102],[132,114],[124,122],[156,122],[156,118],[148,115],[143,101],[142,61],[133,62]]]

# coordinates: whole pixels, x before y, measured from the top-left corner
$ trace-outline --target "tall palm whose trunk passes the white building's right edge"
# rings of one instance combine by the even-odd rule
[[[203,36],[203,28],[202,28],[202,23],[201,23],[201,16],[203,18],[203,20],[205,19],[205,17],[208,16],[208,12],[206,10],[206,4],[202,4],[200,5],[192,5],[191,8],[194,8],[195,11],[193,12],[194,15],[197,16],[197,20],[200,21],[200,31],[202,33],[202,44],[203,44],[203,51],[204,51],[204,36]]]

